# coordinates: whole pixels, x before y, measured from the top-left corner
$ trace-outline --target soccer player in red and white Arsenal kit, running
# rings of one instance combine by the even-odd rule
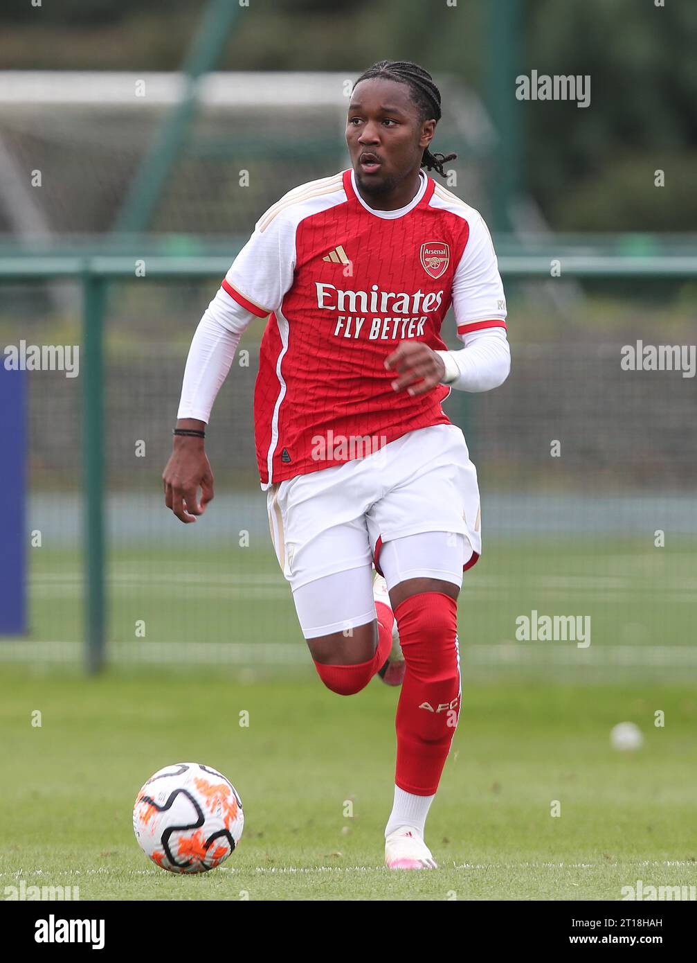
[[[460,711],[457,596],[481,551],[477,472],[441,403],[510,369],[489,231],[423,170],[455,156],[430,150],[440,117],[418,65],[358,78],[350,168],[269,208],[195,330],[163,474],[168,508],[194,522],[213,498],[214,400],[245,327],[270,316],[256,453],[304,638],[330,690],[401,683],[391,869],[436,866],[424,827]],[[440,337],[451,305],[458,351]]]

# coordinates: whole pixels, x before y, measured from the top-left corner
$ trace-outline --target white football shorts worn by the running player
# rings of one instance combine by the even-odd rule
[[[273,482],[267,506],[276,558],[294,592],[373,563],[381,572],[382,545],[405,535],[465,535],[458,539],[464,569],[481,553],[477,469],[456,425],[409,431],[371,455]],[[443,577],[415,559],[409,578],[419,576]]]

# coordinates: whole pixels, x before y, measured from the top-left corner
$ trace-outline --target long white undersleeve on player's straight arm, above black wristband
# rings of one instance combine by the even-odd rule
[[[205,422],[254,314],[220,288],[203,312],[189,349],[177,418]]]

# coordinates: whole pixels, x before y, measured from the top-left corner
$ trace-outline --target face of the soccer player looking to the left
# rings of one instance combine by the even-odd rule
[[[435,120],[421,120],[406,84],[362,80],[351,94],[346,139],[361,192],[389,194],[421,167]]]

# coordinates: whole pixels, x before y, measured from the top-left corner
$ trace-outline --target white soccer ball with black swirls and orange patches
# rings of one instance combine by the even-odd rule
[[[215,869],[240,842],[244,822],[235,787],[200,763],[158,769],[133,807],[138,845],[169,872]]]

